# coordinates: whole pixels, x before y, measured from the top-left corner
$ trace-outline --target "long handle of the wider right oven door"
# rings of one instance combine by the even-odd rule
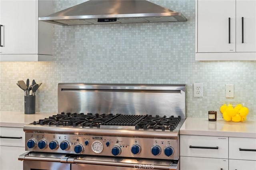
[[[68,158],[68,163],[76,164],[94,164],[94,165],[104,165],[104,166],[122,166],[122,167],[131,167],[131,168],[140,168],[140,164],[134,163],[122,163],[122,162],[106,162],[106,161],[97,161],[97,160],[82,160],[76,158]],[[161,165],[146,165],[150,169],[159,169],[159,170],[177,170],[177,166],[161,166]]]

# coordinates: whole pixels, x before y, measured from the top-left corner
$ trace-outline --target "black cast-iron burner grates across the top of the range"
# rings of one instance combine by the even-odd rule
[[[73,126],[73,127],[97,127],[103,128],[122,126],[126,128],[134,127],[134,129],[153,129],[153,130],[174,130],[178,125],[181,117],[160,117],[156,115],[122,115],[122,114],[102,114],[98,113],[61,113],[49,118],[34,121],[34,125],[50,125],[50,126]],[[109,127],[108,127],[109,126]]]

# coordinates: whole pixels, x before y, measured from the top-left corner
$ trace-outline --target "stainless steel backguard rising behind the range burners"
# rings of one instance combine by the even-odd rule
[[[186,118],[186,85],[58,84],[58,113],[113,113]]]

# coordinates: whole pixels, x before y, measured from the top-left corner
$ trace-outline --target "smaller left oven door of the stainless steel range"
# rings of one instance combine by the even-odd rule
[[[26,152],[18,157],[23,161],[23,170],[70,170],[66,163],[69,155],[40,152]]]

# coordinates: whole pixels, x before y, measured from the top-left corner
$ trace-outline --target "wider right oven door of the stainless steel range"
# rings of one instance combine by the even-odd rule
[[[68,158],[71,170],[179,170],[178,161],[80,155]]]

